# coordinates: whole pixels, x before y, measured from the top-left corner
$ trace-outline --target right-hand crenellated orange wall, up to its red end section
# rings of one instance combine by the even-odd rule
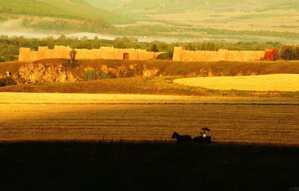
[[[248,61],[260,60],[264,58],[265,51],[236,51],[223,50],[219,51],[189,51],[183,47],[174,47],[173,60],[175,61]]]

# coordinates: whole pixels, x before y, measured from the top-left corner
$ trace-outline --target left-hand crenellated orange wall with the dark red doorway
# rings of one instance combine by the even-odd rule
[[[70,58],[68,52],[69,46],[54,46],[54,49],[48,49],[48,46],[38,47],[38,51],[31,51],[30,48],[20,48],[19,61],[35,61],[45,58]],[[100,49],[75,49],[77,51],[76,59],[117,59],[122,60],[123,54],[129,54],[129,60],[150,60],[156,58],[164,52],[147,52],[141,49],[116,49],[114,47],[100,47]]]

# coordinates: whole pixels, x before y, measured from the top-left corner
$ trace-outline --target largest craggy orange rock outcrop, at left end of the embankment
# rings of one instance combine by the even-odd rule
[[[28,63],[19,68],[19,78],[25,83],[37,82],[73,82],[78,78],[67,70],[66,80],[65,68],[61,64]]]

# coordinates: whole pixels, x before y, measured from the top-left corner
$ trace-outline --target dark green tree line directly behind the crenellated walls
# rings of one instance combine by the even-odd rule
[[[58,38],[48,36],[46,38],[25,38],[24,36],[0,35],[0,62],[17,60],[20,47],[29,47],[31,50],[38,50],[39,46],[48,46],[53,49],[55,45],[70,46],[72,49],[99,49],[101,46],[113,46],[115,48],[146,49],[152,52],[166,52],[159,55],[158,59],[172,59],[175,46],[184,47],[186,50],[265,50],[278,49],[276,59],[298,60],[299,45],[283,45],[280,42],[181,42],[165,43],[161,41],[139,42],[134,37],[116,37],[114,40],[100,39],[97,36],[89,39],[87,36],[81,38],[67,37],[60,35]]]

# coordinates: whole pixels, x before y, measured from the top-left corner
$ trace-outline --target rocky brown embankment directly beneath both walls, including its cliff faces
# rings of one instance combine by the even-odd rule
[[[132,60],[75,60],[68,66],[66,80],[65,66],[67,59],[44,59],[34,62],[7,62],[0,64],[0,78],[7,72],[18,83],[38,82],[73,82],[84,79],[87,70],[105,72],[112,77],[154,77],[154,76],[248,76],[283,73],[298,73],[298,67],[289,64],[214,62],[190,63],[170,62],[162,60],[132,61]],[[286,64],[286,63],[285,63]]]

